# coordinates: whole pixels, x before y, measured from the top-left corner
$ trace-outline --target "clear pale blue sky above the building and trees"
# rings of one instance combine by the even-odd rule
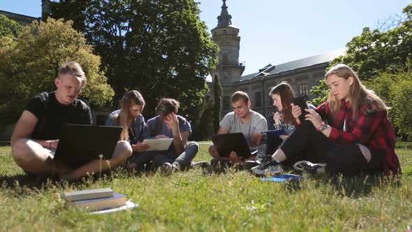
[[[200,20],[210,30],[217,26],[221,0],[200,2]],[[267,64],[345,48],[364,27],[375,29],[390,17],[402,15],[406,0],[227,0],[232,23],[240,29],[239,61],[243,75]],[[41,16],[41,0],[0,0],[0,10]]]

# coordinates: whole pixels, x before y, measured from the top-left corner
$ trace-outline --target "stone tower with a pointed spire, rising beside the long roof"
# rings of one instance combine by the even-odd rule
[[[226,87],[233,82],[240,81],[244,71],[244,65],[239,63],[240,36],[239,29],[232,24],[232,16],[228,13],[226,0],[223,0],[221,14],[217,17],[218,24],[212,29],[212,39],[219,45],[220,51],[217,54],[219,64],[216,70],[212,71],[212,80],[217,77],[223,87],[223,93],[227,92]]]

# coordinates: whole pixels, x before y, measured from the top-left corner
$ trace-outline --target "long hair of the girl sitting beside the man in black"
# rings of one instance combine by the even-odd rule
[[[128,140],[128,129],[134,122],[134,117],[131,115],[130,109],[132,103],[145,107],[145,99],[142,94],[136,90],[131,90],[124,94],[122,102],[120,103],[121,109],[119,115],[115,119],[119,126],[122,126],[122,133],[120,134],[120,140]]]

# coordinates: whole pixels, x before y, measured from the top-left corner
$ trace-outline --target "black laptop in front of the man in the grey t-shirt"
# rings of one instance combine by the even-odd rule
[[[244,159],[252,155],[243,133],[213,134],[212,142],[220,157],[230,157],[232,151]]]

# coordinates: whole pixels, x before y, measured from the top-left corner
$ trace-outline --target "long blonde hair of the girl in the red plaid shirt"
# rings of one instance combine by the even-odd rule
[[[388,111],[390,109],[385,105],[383,100],[374,93],[373,90],[367,89],[365,85],[362,85],[355,71],[353,71],[353,69],[346,64],[337,64],[330,68],[325,74],[325,80],[332,74],[337,75],[339,78],[345,78],[346,80],[350,77],[353,78],[353,85],[351,85],[349,94],[351,95],[350,103],[355,119],[358,118],[360,110],[363,110],[364,113],[372,113],[381,110]],[[329,92],[328,102],[330,104],[330,111],[332,114],[336,115],[339,113],[341,101],[335,98],[332,92]]]

